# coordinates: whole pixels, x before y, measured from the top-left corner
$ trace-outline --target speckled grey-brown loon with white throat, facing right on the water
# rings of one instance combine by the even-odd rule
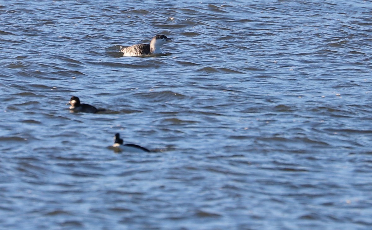
[[[121,49],[123,56],[143,56],[149,54],[161,54],[160,47],[166,42],[173,38],[167,38],[165,35],[156,35],[151,39],[150,44],[136,44]]]

